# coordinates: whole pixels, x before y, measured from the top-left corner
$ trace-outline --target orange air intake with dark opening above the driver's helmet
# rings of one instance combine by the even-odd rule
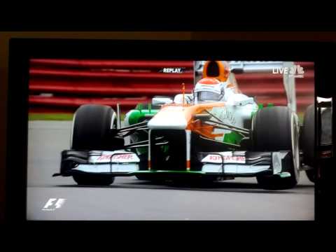
[[[203,78],[211,77],[220,81],[228,80],[230,66],[226,61],[207,61],[203,68]]]

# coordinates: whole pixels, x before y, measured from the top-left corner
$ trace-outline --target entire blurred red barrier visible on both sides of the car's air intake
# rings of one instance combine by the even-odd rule
[[[297,112],[314,103],[314,63],[294,62],[304,69],[304,78],[295,78]],[[105,104],[122,113],[137,104],[151,102],[155,95],[174,97],[192,92],[192,61],[31,59],[29,69],[29,120],[71,120],[82,104]],[[182,67],[183,73],[163,73],[166,67]],[[259,104],[286,106],[281,74],[235,74],[239,89],[255,96]]]

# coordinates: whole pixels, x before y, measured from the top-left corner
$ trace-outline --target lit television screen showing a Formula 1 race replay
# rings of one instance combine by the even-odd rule
[[[314,62],[29,62],[27,220],[314,221]]]

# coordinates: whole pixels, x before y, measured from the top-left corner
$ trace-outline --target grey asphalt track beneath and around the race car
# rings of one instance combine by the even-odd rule
[[[77,186],[59,172],[69,148],[71,122],[29,122],[27,218],[84,221],[293,221],[314,220],[314,184],[304,172],[290,190],[262,190],[254,178],[207,186],[155,184],[118,177],[111,186]],[[48,211],[50,198],[65,199]]]

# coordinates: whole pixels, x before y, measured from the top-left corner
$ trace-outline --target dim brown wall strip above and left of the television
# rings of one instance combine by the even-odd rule
[[[10,38],[87,38],[234,41],[336,41],[336,32],[0,31],[0,222],[4,220],[8,44]]]

